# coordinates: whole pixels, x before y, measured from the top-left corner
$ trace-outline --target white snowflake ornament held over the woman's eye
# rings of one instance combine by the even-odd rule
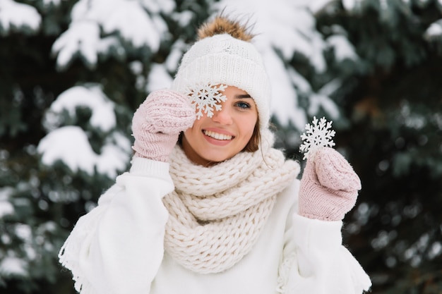
[[[195,106],[196,118],[200,119],[203,113],[208,117],[213,116],[213,111],[220,111],[220,102],[225,102],[227,97],[222,94],[226,85],[195,84],[189,88],[188,95]]]

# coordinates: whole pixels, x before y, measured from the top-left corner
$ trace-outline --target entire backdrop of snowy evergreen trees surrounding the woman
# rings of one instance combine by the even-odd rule
[[[372,293],[438,293],[440,6],[0,0],[0,287],[73,293],[56,251],[129,163],[136,106],[169,85],[195,28],[225,8],[256,21],[289,157],[301,160],[299,134],[313,116],[333,120],[362,178],[344,232]]]

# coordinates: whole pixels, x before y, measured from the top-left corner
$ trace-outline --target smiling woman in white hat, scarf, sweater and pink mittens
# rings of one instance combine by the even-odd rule
[[[272,147],[270,87],[253,36],[223,17],[198,35],[172,90],[152,92],[133,116],[131,170],[60,251],[76,290],[369,290],[340,233],[360,189],[350,164],[318,149],[297,180],[299,164]]]

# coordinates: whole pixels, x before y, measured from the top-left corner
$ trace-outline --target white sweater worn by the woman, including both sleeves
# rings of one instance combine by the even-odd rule
[[[342,246],[341,221],[297,214],[299,180],[284,190],[251,252],[218,274],[196,274],[164,250],[174,190],[169,164],[134,158],[131,171],[78,220],[60,253],[82,294],[359,294],[371,281]],[[80,242],[78,242],[80,241]]]

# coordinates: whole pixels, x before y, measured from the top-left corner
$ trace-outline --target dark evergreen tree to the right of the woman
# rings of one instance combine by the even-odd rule
[[[347,240],[373,293],[440,293],[441,1],[323,2],[318,30],[342,35],[357,54],[328,59],[328,75],[342,80],[333,99],[350,121],[336,142],[363,186]]]

